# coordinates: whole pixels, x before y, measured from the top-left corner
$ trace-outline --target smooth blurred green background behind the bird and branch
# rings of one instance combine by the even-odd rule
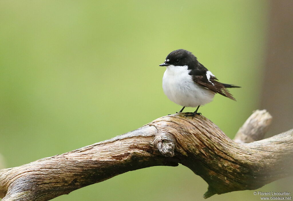
[[[233,138],[259,108],[268,1],[0,1],[2,168],[141,127],[181,107],[162,90],[165,57],[193,52],[237,99],[200,112]],[[186,112],[194,111],[193,108]],[[261,190],[275,188],[274,183]],[[54,200],[204,200],[188,168],[151,167]],[[208,200],[260,200],[253,191]]]

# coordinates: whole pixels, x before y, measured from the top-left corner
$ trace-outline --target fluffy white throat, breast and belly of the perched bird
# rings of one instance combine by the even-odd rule
[[[163,76],[163,90],[174,103],[197,107],[212,101],[215,93],[193,82],[187,66],[167,66]]]

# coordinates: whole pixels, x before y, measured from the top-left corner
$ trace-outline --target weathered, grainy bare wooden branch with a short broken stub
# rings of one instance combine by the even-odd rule
[[[265,111],[256,112],[236,136],[245,144],[232,141],[204,116],[163,116],[110,140],[0,170],[0,197],[50,200],[127,171],[178,163],[209,184],[205,198],[257,189],[292,175],[293,129],[246,143],[263,136],[270,121]]]

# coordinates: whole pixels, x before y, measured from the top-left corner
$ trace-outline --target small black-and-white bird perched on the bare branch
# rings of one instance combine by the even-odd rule
[[[163,90],[171,101],[183,106],[179,112],[185,107],[197,107],[195,112],[188,116],[201,114],[197,112],[198,108],[211,102],[216,93],[236,100],[227,88],[238,86],[219,82],[212,72],[187,50],[174,50],[159,66],[167,67],[163,76]]]

